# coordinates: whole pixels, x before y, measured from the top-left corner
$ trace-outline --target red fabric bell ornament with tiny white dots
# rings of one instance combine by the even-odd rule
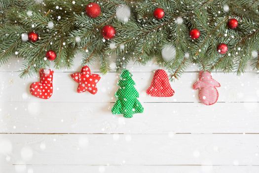
[[[171,97],[174,93],[166,72],[162,69],[156,70],[147,94],[153,97]]]

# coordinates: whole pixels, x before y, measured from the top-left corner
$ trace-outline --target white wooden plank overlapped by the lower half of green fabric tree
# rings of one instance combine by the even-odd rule
[[[259,133],[259,103],[144,103],[132,119],[112,103],[1,102],[0,132],[8,133]]]

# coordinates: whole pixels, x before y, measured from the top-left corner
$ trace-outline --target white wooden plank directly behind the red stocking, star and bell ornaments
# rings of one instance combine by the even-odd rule
[[[54,74],[54,93],[48,100],[42,100],[29,93],[31,83],[38,81],[38,77],[26,80],[18,77],[18,72],[0,73],[0,101],[25,101],[25,102],[114,102],[114,93],[117,90],[117,73],[109,73],[102,77],[97,84],[98,93],[92,95],[88,92],[77,93],[77,83],[70,76],[71,73]],[[181,80],[171,83],[175,90],[173,97],[151,97],[146,94],[150,86],[153,72],[133,73],[136,88],[140,93],[141,102],[199,102],[198,90],[192,89],[193,83],[198,78],[198,73],[185,73]],[[221,83],[219,87],[219,102],[258,102],[259,80],[254,73],[242,76],[234,74],[213,73],[213,78]],[[14,94],[15,93],[15,94]]]

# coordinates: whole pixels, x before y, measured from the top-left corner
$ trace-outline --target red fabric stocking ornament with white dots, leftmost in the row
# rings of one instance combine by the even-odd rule
[[[53,73],[54,71],[51,69],[40,69],[39,70],[39,81],[35,82],[30,87],[30,92],[32,95],[48,99],[52,96],[53,93]]]

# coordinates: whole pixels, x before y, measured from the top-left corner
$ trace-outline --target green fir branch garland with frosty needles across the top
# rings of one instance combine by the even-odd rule
[[[84,12],[93,1],[102,9],[97,18]],[[131,8],[126,23],[116,18],[121,4]],[[160,20],[153,17],[157,7],[165,11]],[[230,18],[238,19],[237,29],[227,27]],[[116,30],[111,40],[103,39],[105,25]],[[189,38],[193,28],[200,30],[197,40]],[[21,35],[32,31],[40,40],[23,42]],[[219,43],[228,45],[226,54],[217,51]],[[161,49],[167,45],[176,49],[172,61],[162,58]],[[155,58],[169,70],[171,79],[179,78],[188,63],[202,70],[239,74],[248,64],[259,69],[255,56],[259,50],[259,0],[0,0],[1,65],[14,55],[23,57],[21,76],[31,75],[49,67],[50,62],[44,60],[49,49],[57,53],[55,68],[70,68],[75,54],[81,52],[82,65],[100,61],[103,73],[111,70],[110,57],[115,56],[117,71],[130,60],[145,65]]]

